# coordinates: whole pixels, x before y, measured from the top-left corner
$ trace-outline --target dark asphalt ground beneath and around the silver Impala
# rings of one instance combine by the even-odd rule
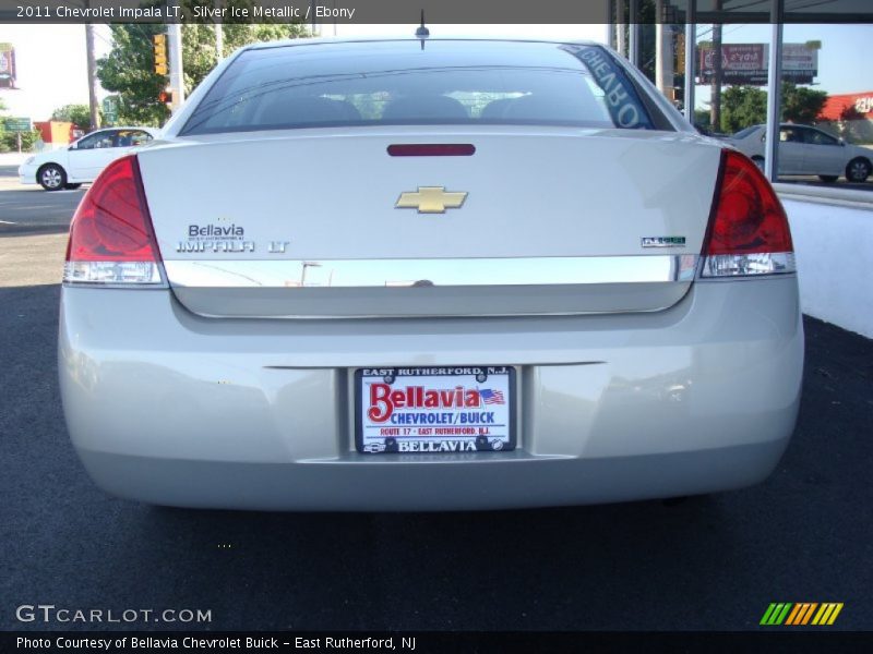
[[[63,235],[22,233],[0,233],[0,629],[86,627],[15,619],[53,604],[211,610],[183,627],[212,630],[742,630],[770,602],[842,602],[834,629],[873,628],[873,341],[805,320],[794,439],[749,489],[477,513],[158,509],[106,496],[75,459],[57,385]]]

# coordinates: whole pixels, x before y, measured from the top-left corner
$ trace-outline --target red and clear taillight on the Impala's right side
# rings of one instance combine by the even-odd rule
[[[757,166],[734,150],[721,154],[704,277],[793,272],[794,247],[785,209]]]

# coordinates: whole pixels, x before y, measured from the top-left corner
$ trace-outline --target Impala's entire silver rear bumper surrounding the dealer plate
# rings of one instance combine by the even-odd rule
[[[106,491],[246,509],[605,502],[764,480],[794,427],[797,281],[698,282],[649,314],[207,319],[166,290],[64,288],[73,445]],[[518,449],[355,451],[354,371],[517,366]]]

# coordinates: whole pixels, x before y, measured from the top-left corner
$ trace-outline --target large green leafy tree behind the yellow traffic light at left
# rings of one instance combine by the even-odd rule
[[[195,17],[195,7],[214,8],[213,0],[184,0],[182,13],[182,61],[186,93],[191,93],[217,63],[215,26]],[[248,7],[250,0],[226,0],[224,7]],[[250,11],[251,15],[251,11]],[[111,25],[112,49],[97,61],[100,85],[118,96],[120,124],[160,125],[170,114],[159,94],[167,88],[169,77],[154,72],[152,37],[163,33],[165,25],[137,23]],[[306,34],[300,23],[235,24],[224,23],[224,55],[253,41],[296,38]]]

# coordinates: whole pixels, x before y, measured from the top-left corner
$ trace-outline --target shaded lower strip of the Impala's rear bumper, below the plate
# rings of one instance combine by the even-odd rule
[[[531,457],[439,462],[228,463],[80,450],[85,468],[119,497],[159,505],[261,510],[469,510],[602,504],[697,495],[756,484],[787,438],[606,459]],[[398,455],[397,457],[400,457]],[[478,457],[478,456],[477,456]]]

